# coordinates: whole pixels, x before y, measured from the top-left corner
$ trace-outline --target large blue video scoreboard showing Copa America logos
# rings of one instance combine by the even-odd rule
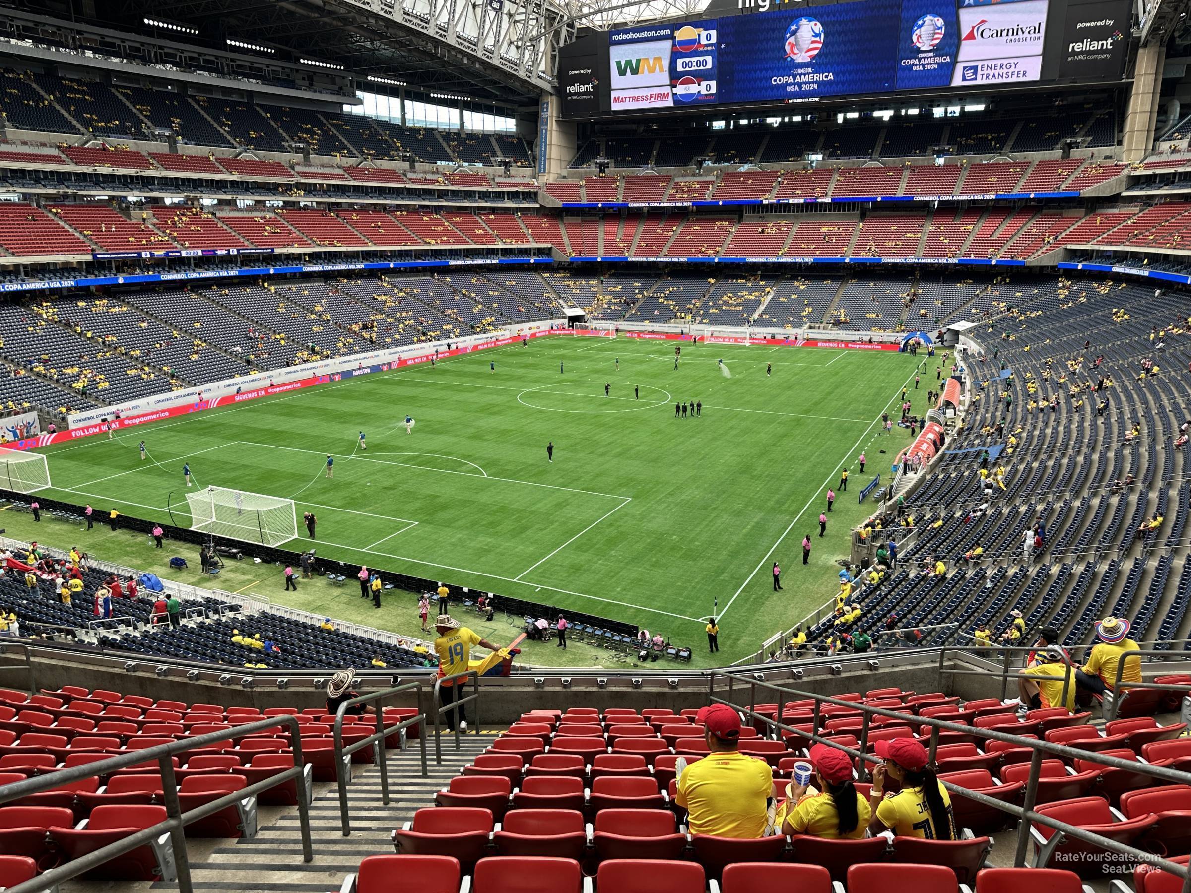
[[[1128,0],[787,2],[585,35],[559,51],[563,117],[1114,81],[1131,29]]]

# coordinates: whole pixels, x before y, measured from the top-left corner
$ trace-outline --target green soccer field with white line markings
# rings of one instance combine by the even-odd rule
[[[880,435],[880,413],[908,383],[923,412],[937,361],[913,392],[903,354],[684,343],[675,369],[673,344],[540,338],[51,447],[45,494],[162,522],[168,506],[188,526],[189,462],[199,487],[292,498],[294,548],[313,511],[322,558],[553,602],[697,648],[718,599],[724,657],[740,656],[831,595],[855,491],[887,474],[908,439]],[[676,401],[701,401],[701,416],[675,418]],[[852,492],[819,539],[843,466]],[[773,592],[774,560],[787,592]]]

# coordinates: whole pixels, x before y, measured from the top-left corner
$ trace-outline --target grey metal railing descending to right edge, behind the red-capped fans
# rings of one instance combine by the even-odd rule
[[[717,695],[716,680],[724,679],[728,681],[728,691],[725,697],[721,698]],[[748,704],[744,706],[742,702],[737,704],[735,695],[738,689],[748,686]],[[772,692],[777,694],[777,713],[775,718],[769,718],[763,713],[756,711],[756,692],[761,688],[765,692]],[[1077,841],[1083,841],[1085,843],[1099,847],[1109,853],[1116,853],[1123,856],[1130,857],[1136,863],[1146,863],[1154,868],[1160,868],[1164,872],[1170,872],[1183,879],[1183,893],[1191,893],[1191,867],[1183,866],[1177,862],[1172,862],[1167,858],[1155,856],[1153,853],[1146,850],[1140,850],[1135,847],[1129,847],[1128,844],[1120,843],[1117,841],[1102,837],[1100,835],[1087,831],[1078,825],[1072,825],[1067,822],[1059,819],[1053,819],[1049,816],[1035,812],[1034,807],[1037,800],[1037,782],[1042,772],[1042,760],[1043,756],[1056,756],[1060,758],[1066,757],[1067,760],[1095,760],[1095,762],[1103,764],[1109,768],[1115,769],[1127,769],[1129,772],[1136,772],[1142,775],[1149,775],[1160,781],[1166,781],[1176,785],[1187,785],[1191,783],[1191,773],[1178,772],[1176,769],[1168,769],[1161,766],[1153,766],[1151,763],[1135,762],[1130,760],[1122,760],[1120,757],[1109,756],[1103,753],[1080,750],[1079,748],[1067,747],[1065,744],[1053,744],[1047,741],[1039,741],[1036,738],[1024,738],[1017,735],[1008,735],[1005,732],[993,731],[991,729],[978,729],[971,725],[962,725],[960,723],[949,723],[942,719],[935,719],[933,717],[919,717],[913,713],[898,712],[897,710],[886,710],[884,707],[873,707],[865,704],[859,704],[856,701],[846,701],[838,698],[830,698],[823,694],[815,694],[812,692],[803,692],[794,688],[786,688],[784,686],[774,685],[771,682],[765,682],[756,679],[741,680],[729,673],[712,672],[709,680],[709,699],[712,704],[725,704],[732,710],[740,711],[743,716],[747,716],[753,723],[763,723],[766,726],[777,731],[779,739],[782,733],[790,733],[805,738],[807,743],[816,744],[828,744],[833,748],[838,748],[843,750],[848,756],[858,761],[860,779],[865,780],[868,778],[868,766],[867,763],[880,762],[880,757],[875,754],[867,753],[868,750],[868,730],[871,720],[873,717],[885,717],[888,719],[902,720],[911,725],[917,726],[929,726],[930,727],[930,758],[934,761],[935,753],[939,747],[939,735],[940,732],[959,732],[966,736],[974,736],[978,738],[985,738],[987,741],[1000,741],[1009,744],[1016,744],[1023,748],[1030,748],[1033,755],[1030,758],[1030,774],[1029,780],[1025,786],[1025,797],[1021,806],[1004,800],[998,800],[996,798],[983,794],[979,791],[972,791],[968,788],[959,787],[948,781],[941,781],[947,791],[949,791],[955,797],[965,797],[974,800],[984,806],[990,806],[1002,812],[1006,812],[1010,816],[1016,817],[1021,820],[1019,830],[1017,835],[1017,850],[1014,855],[1014,866],[1017,868],[1025,867],[1025,853],[1029,844],[1028,829],[1031,824],[1045,825],[1050,828],[1058,833],[1053,835],[1047,842],[1045,851],[1040,854],[1040,858],[1062,843],[1064,838],[1073,837]],[[796,729],[791,725],[782,723],[785,714],[785,705],[792,701],[813,701],[813,716],[811,718],[811,726],[813,731],[807,732],[803,729]],[[824,738],[818,733],[821,729],[821,716],[822,708],[824,706],[840,706],[847,707],[852,711],[859,711],[862,714],[862,725],[860,730],[860,745],[859,748],[849,748],[835,742],[830,738]],[[1043,860],[1045,861],[1045,860]]]

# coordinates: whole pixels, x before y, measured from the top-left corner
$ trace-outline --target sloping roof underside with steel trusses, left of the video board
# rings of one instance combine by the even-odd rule
[[[511,104],[550,86],[547,43],[567,19],[548,0],[124,0],[119,10],[133,25],[160,17],[360,79]]]

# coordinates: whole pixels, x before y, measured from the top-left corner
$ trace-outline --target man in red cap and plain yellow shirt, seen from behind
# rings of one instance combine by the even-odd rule
[[[679,775],[674,803],[687,811],[691,833],[750,838],[765,833],[773,770],[740,753],[741,718],[724,704],[696,717],[706,727],[707,756]]]

